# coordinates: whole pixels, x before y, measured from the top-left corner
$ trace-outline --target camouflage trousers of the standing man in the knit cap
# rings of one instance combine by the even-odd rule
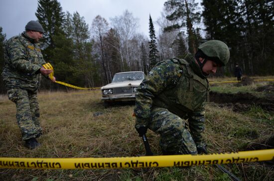
[[[16,119],[22,133],[22,140],[39,137],[42,134],[42,128],[39,121],[37,91],[16,88],[7,90],[7,96],[16,104]]]

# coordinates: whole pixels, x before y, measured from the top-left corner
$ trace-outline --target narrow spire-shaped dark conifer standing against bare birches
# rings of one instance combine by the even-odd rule
[[[159,51],[157,50],[155,30],[154,30],[154,25],[153,25],[150,14],[149,14],[149,37],[150,37],[149,61],[150,61],[150,69],[152,69],[157,63],[157,59],[158,59],[157,54]]]

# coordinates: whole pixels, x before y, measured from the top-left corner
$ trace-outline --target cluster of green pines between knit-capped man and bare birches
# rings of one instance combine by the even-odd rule
[[[100,84],[84,17],[78,12],[64,14],[57,0],[39,0],[35,14],[45,29],[43,54],[52,64],[56,79],[79,87]],[[42,84],[42,89],[51,87],[48,82]]]

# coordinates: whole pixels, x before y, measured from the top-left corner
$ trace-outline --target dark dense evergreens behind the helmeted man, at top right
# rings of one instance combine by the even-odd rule
[[[203,0],[206,39],[219,39],[230,47],[228,72],[239,63],[248,75],[273,72],[274,1]]]

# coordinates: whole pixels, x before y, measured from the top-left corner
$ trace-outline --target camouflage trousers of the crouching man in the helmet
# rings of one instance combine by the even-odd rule
[[[152,108],[149,129],[160,134],[160,147],[165,155],[197,154],[195,142],[185,121],[165,108]]]

